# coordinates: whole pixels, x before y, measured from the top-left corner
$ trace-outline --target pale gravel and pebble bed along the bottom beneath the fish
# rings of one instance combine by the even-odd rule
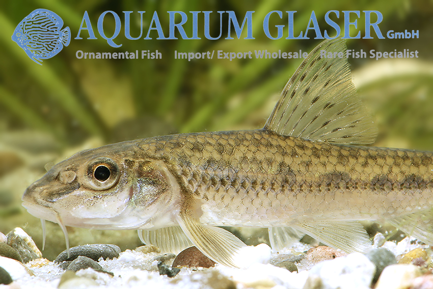
[[[382,248],[374,249],[368,254],[347,255],[325,246],[311,248],[309,245],[296,243],[285,252],[273,253],[270,264],[252,262],[247,269],[217,264],[210,268],[183,266],[178,272],[177,268],[171,267],[175,255],[143,248],[120,252],[119,256],[113,259],[100,257],[97,264],[102,269],[94,264],[89,265],[96,270],[87,268],[77,272],[65,271],[61,266],[63,262],[44,258],[21,264],[13,259],[0,257],[0,267],[8,271],[14,280],[8,286],[22,289],[371,288],[377,279],[375,288],[393,289],[400,288],[402,284],[408,288],[424,288],[433,281],[431,251],[428,246],[405,238],[398,244],[385,242]],[[414,250],[417,248],[420,249]],[[412,252],[406,254],[410,251]],[[395,264],[395,256],[403,256],[405,264]],[[88,263],[91,264],[83,262]],[[160,273],[161,267],[164,267],[163,273]],[[383,270],[383,273],[377,274],[377,270]],[[169,277],[171,275],[174,277]]]

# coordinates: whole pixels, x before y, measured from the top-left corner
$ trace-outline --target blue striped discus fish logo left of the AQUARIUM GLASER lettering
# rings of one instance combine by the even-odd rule
[[[24,49],[30,59],[42,65],[42,59],[58,54],[71,41],[69,27],[61,30],[63,20],[54,12],[36,9],[19,22],[12,40]]]

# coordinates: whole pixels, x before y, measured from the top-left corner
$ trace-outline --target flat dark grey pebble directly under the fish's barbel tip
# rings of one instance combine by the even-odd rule
[[[63,261],[75,260],[78,256],[86,256],[95,261],[98,261],[100,257],[105,259],[113,259],[119,257],[120,248],[116,245],[111,244],[91,244],[72,247],[70,249],[70,255],[68,258],[67,251],[60,253],[56,260],[56,263],[61,263]]]

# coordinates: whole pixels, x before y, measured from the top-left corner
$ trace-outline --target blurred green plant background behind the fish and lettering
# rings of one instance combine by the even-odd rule
[[[71,29],[71,43],[40,66],[11,40],[16,25],[30,12],[44,8],[56,12]],[[107,44],[97,33],[97,19],[107,10],[122,20],[116,38],[119,48]],[[270,40],[263,33],[263,18],[273,10],[283,11],[283,19],[272,17],[274,25],[284,24],[284,36]],[[320,29],[332,30],[324,21],[329,10],[340,11],[336,22],[343,27],[345,10],[377,10],[387,31],[419,30],[419,39],[356,39],[349,49],[419,51],[418,59],[350,59],[354,83],[360,97],[380,128],[377,146],[433,150],[433,2],[397,1],[3,1],[0,2],[0,231],[24,228],[41,247],[39,220],[21,207],[22,192],[45,172],[45,165],[57,163],[78,150],[107,143],[173,133],[205,130],[254,129],[264,125],[281,89],[302,59],[200,59],[175,60],[179,52],[224,50],[246,52],[310,51],[320,40],[286,40],[287,13],[294,17],[295,35],[305,31],[314,10]],[[84,11],[89,13],[97,40],[75,40]],[[122,11],[131,14],[131,35],[140,33],[137,11],[143,14],[146,35],[153,11],[168,37],[167,11],[184,11],[183,26],[191,37],[192,17],[188,11],[213,11],[211,35],[219,35],[217,11],[235,11],[239,22],[246,11],[253,13],[254,40],[226,40],[227,16],[219,40],[207,40],[203,33],[203,13],[199,14],[201,40],[127,40]],[[364,35],[364,13],[358,30]],[[107,15],[107,35],[114,21]],[[335,17],[333,19],[336,19]],[[353,18],[355,20],[355,17]],[[176,22],[179,22],[176,19]],[[351,33],[355,35],[355,31]],[[177,34],[180,38],[180,36]],[[314,38],[310,31],[309,37]],[[143,36],[144,37],[144,36]],[[143,38],[142,37],[142,38]],[[75,52],[124,52],[158,50],[162,59],[89,60],[77,59]],[[216,53],[216,52],[215,52]],[[368,55],[368,52],[367,52]],[[55,224],[47,224],[44,256],[54,258],[65,248],[63,234]],[[140,245],[132,231],[96,231],[68,228],[71,246],[86,243],[114,243],[126,248]]]

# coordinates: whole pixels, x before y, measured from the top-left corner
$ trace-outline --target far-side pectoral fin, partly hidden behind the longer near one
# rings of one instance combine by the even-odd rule
[[[138,233],[141,242],[155,245],[164,253],[178,254],[182,250],[194,246],[179,226],[156,230],[138,230]]]

